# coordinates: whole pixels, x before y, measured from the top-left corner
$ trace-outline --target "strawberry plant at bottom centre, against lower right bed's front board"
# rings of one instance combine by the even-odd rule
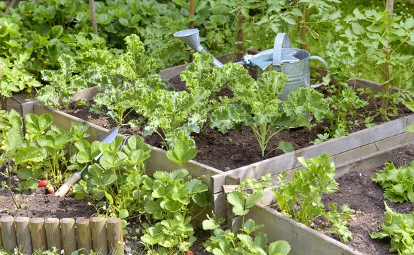
[[[208,216],[203,221],[204,230],[214,230],[213,236],[207,241],[207,251],[215,255],[219,254],[283,254],[290,251],[290,245],[286,241],[276,241],[267,245],[267,236],[263,233],[256,233],[255,238],[250,234],[257,232],[264,225],[256,225],[255,221],[244,216],[263,197],[264,187],[268,187],[270,174],[262,176],[259,181],[244,179],[234,192],[227,194],[228,203],[233,205],[233,213],[242,216],[242,228],[240,230],[223,230],[220,225],[224,223],[223,218],[217,219]],[[247,192],[249,190],[250,192]]]

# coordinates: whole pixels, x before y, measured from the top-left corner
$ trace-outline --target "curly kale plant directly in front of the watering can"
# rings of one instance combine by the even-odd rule
[[[287,101],[278,99],[288,77],[279,72],[265,72],[255,81],[241,65],[225,65],[228,87],[234,97],[221,99],[221,105],[210,114],[210,126],[226,132],[237,123],[252,128],[261,147],[262,156],[270,139],[290,127],[311,127],[307,111],[322,121],[328,111],[324,95],[311,88],[291,92]]]

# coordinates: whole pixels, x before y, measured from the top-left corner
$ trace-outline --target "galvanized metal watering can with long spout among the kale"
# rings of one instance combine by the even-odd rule
[[[198,29],[188,29],[176,32],[175,37],[184,41],[187,45],[197,52],[208,52],[200,43]],[[311,75],[309,72],[309,60],[317,59],[324,63],[326,70],[329,71],[328,63],[322,57],[311,56],[306,50],[290,48],[290,39],[288,34],[279,33],[276,35],[273,49],[264,50],[255,55],[245,54],[242,61],[235,62],[241,65],[248,65],[257,69],[260,76],[263,72],[271,70],[282,72],[288,76],[289,81],[286,83],[284,92],[279,99],[286,101],[288,94],[298,88],[311,87],[317,88],[323,83],[311,85]],[[213,59],[213,65],[222,68],[223,63],[218,59]]]

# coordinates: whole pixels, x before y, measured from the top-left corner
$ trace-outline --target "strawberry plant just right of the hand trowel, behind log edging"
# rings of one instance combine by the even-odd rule
[[[88,175],[75,185],[75,197],[88,196],[97,202],[108,216],[123,219],[130,214],[144,212],[144,203],[150,193],[152,181],[144,174],[142,163],[150,156],[150,147],[139,136],[132,136],[120,150],[122,138],[117,137],[111,143],[77,141],[79,150],[76,162],[88,163]],[[99,162],[94,162],[102,153]],[[81,165],[78,165],[80,168]],[[77,167],[77,168],[78,168]]]

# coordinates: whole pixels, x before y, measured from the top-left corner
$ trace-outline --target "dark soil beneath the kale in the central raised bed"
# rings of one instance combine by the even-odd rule
[[[253,71],[250,70],[249,72],[252,75],[255,75]],[[186,90],[185,83],[181,81],[179,76],[175,76],[170,79],[170,83],[174,85],[175,90]],[[324,88],[318,88],[318,90],[326,94]],[[217,96],[231,97],[233,94],[230,89],[224,88],[221,92],[219,92],[219,94],[217,94]],[[90,103],[92,104],[93,101]],[[90,121],[91,123],[99,125],[103,128],[115,128],[117,126],[115,121],[112,121],[109,116],[90,112],[89,107],[86,106],[74,108],[74,105],[75,104],[72,103],[70,111],[68,112],[69,114],[77,116],[85,121]],[[406,116],[411,113],[404,107],[404,105],[401,104],[400,106],[398,116],[391,119],[396,119],[397,117]],[[359,111],[361,116],[354,116],[353,119],[362,124],[353,127],[350,130],[351,132],[356,132],[366,128],[363,124],[364,116],[362,116],[362,114],[371,110],[373,110],[373,106],[370,104],[366,108]],[[135,112],[132,112],[128,115],[124,123],[128,123],[130,119],[139,118],[142,119],[141,116],[135,114]],[[373,123],[382,123],[382,119],[378,117],[375,121],[373,121]],[[312,130],[306,130],[305,128],[282,130],[279,134],[273,136],[273,139],[270,139],[266,150],[266,156],[261,155],[261,149],[250,127],[244,126],[238,130],[232,129],[226,134],[221,134],[218,130],[206,128],[206,130],[201,134],[194,134],[193,136],[198,152],[195,157],[195,161],[210,165],[221,171],[233,170],[237,167],[242,167],[244,165],[249,165],[251,163],[283,154],[282,150],[277,149],[279,142],[281,141],[292,144],[295,150],[313,145],[312,142],[317,139],[317,134],[323,134],[324,127],[326,126],[329,126],[327,122],[319,123]],[[124,134],[141,135],[143,131],[142,129],[143,127],[129,128],[129,126],[126,125],[121,128],[121,132]],[[155,147],[163,147],[162,141],[157,134],[146,136],[144,137],[144,140],[146,143],[154,145]]]

